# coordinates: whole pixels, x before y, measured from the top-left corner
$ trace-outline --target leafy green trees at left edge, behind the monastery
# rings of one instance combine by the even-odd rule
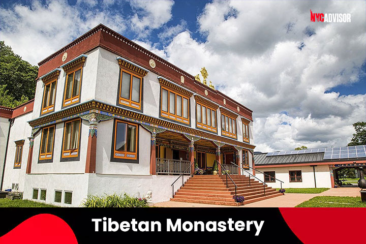
[[[0,42],[1,96],[7,96],[0,99],[0,105],[14,107],[24,100],[33,99],[37,74],[37,66],[32,66],[15,54],[4,41]]]

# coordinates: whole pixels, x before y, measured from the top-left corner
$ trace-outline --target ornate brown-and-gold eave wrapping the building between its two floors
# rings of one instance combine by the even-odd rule
[[[171,132],[180,133],[185,136],[194,136],[197,138],[210,140],[213,142],[225,143],[228,145],[239,146],[246,149],[255,148],[254,145],[251,145],[249,143],[239,142],[230,138],[204,132],[191,127],[179,125],[167,120],[151,117],[143,113],[135,112],[125,108],[115,107],[113,105],[105,104],[95,100],[78,104],[74,107],[70,107],[59,112],[45,115],[43,117],[28,121],[28,123],[30,126],[32,126],[33,129],[37,129],[44,126],[60,123],[62,121],[66,121],[74,117],[79,117],[92,112],[102,113],[111,117],[128,120],[133,123],[138,123],[140,125],[147,125]]]

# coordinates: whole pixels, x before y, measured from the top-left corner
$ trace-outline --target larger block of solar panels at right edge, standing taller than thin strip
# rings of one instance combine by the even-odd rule
[[[366,148],[362,146],[343,146],[326,148],[324,159],[352,159],[366,157]]]

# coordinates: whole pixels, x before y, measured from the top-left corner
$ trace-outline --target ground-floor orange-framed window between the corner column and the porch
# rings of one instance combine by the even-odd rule
[[[113,157],[137,159],[138,125],[116,120],[114,126]]]

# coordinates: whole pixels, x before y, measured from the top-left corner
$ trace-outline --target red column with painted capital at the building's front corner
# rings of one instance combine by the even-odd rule
[[[89,121],[89,135],[86,149],[85,173],[94,174],[96,173],[98,124],[101,121],[109,120],[113,117],[97,112],[90,112],[88,114],[80,116],[80,118]]]

